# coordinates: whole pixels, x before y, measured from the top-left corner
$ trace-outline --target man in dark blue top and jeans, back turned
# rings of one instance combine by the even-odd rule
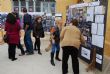
[[[32,30],[32,17],[27,13],[27,9],[23,9],[23,23],[24,23],[24,44],[26,46],[26,53],[27,55],[32,55],[34,54],[33,51],[33,42],[31,39],[31,30]]]

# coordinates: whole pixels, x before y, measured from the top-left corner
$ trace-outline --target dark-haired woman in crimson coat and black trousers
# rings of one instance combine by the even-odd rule
[[[16,46],[20,41],[20,25],[16,20],[16,17],[13,13],[9,13],[7,15],[6,23],[5,23],[5,31],[8,36],[8,55],[9,59],[12,61],[17,60],[15,58],[16,54]]]

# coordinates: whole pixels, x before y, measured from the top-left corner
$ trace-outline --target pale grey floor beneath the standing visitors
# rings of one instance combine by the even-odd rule
[[[18,56],[20,53],[17,49],[17,61],[10,61],[7,57],[7,45],[0,45],[0,74],[62,74],[61,62],[55,61],[56,66],[50,64],[50,52],[45,52],[44,48],[48,45],[47,40],[42,41],[42,53],[38,55],[35,52],[30,56]],[[60,53],[62,54],[62,53]],[[61,56],[61,55],[60,55]],[[72,73],[71,60],[69,60],[69,73]],[[94,74],[86,72],[87,65],[80,61],[80,74]]]

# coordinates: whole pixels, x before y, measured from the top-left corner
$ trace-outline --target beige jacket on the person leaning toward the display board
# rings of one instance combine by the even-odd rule
[[[84,37],[76,26],[64,27],[60,34],[60,40],[61,47],[73,46],[79,49],[81,43],[85,44]]]

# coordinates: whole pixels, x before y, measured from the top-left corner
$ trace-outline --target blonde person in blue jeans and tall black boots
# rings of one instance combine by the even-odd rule
[[[58,28],[58,25],[56,25],[55,27],[55,31],[52,33],[51,35],[51,44],[52,44],[52,50],[51,50],[51,60],[50,63],[55,66],[54,63],[54,54],[56,52],[56,57],[55,59],[58,61],[61,61],[61,59],[59,58],[59,52],[60,52],[60,30]]]

